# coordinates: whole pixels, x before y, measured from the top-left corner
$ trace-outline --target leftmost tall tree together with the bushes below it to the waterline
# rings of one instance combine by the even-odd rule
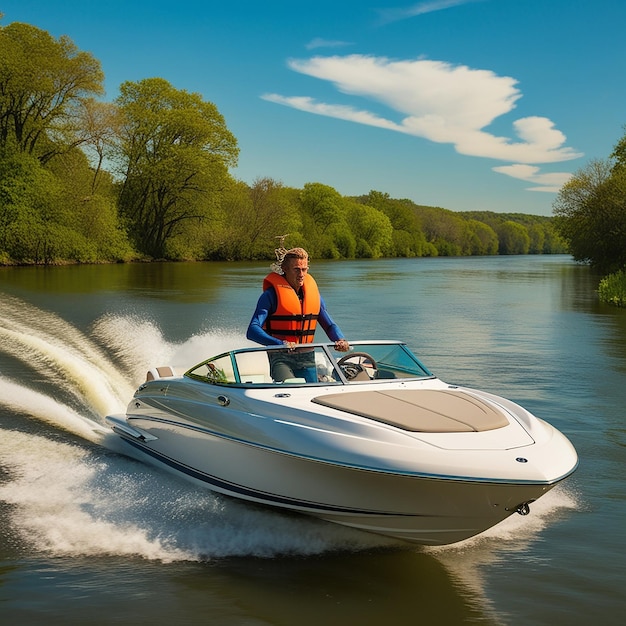
[[[128,258],[111,178],[104,195],[97,194],[99,168],[91,170],[77,148],[92,137],[84,121],[93,96],[103,93],[103,79],[99,62],[67,37],[54,39],[28,24],[0,28],[6,262]]]

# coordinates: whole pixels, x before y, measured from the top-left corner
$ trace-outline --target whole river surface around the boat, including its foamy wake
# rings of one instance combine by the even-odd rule
[[[154,365],[245,329],[259,263],[0,268],[0,621],[623,623],[626,311],[567,256],[315,262],[349,339],[568,436],[577,472],[485,535],[394,544],[202,491],[120,453],[104,415]]]

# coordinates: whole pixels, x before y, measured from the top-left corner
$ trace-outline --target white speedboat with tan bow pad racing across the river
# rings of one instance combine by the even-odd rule
[[[279,362],[294,376],[272,379]],[[107,421],[214,491],[427,545],[528,513],[578,464],[550,424],[446,384],[396,341],[245,348],[182,376],[158,368]]]

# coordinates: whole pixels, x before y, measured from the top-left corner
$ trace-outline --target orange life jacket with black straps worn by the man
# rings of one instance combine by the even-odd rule
[[[320,292],[314,278],[308,274],[304,277],[302,301],[287,279],[276,272],[268,274],[263,280],[263,291],[269,287],[274,287],[278,305],[264,324],[265,332],[283,341],[313,343],[321,307]]]

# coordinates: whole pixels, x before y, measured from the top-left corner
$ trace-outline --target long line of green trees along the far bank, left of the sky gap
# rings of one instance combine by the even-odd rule
[[[246,184],[213,103],[162,78],[104,102],[103,83],[68,37],[0,27],[0,264],[267,259],[286,233],[314,258],[567,250],[550,217]]]

